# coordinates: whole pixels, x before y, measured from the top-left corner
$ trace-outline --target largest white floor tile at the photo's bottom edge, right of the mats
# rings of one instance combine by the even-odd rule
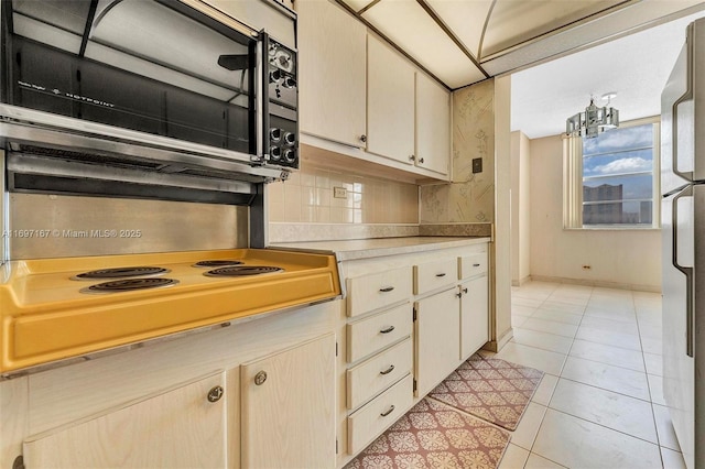
[[[549,408],[532,452],[570,468],[660,468],[659,447]]]

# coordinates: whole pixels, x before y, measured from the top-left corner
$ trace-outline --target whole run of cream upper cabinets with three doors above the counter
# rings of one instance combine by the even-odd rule
[[[302,142],[448,181],[451,92],[334,2],[296,11]]]

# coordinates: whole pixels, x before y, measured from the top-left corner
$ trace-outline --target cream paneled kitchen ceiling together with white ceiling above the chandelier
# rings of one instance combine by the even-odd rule
[[[659,113],[696,0],[336,0],[457,89],[512,74],[512,130],[565,131],[590,96],[617,92],[620,120]]]

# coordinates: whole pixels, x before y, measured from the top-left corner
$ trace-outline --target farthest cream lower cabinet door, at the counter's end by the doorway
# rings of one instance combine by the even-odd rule
[[[460,284],[460,360],[489,339],[487,274]]]

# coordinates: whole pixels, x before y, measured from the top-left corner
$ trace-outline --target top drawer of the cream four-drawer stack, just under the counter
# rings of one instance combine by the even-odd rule
[[[357,316],[411,296],[411,268],[348,279],[348,316]]]

